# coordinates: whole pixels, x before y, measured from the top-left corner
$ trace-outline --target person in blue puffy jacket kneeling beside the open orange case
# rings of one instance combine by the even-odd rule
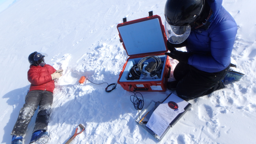
[[[237,24],[222,0],[167,0],[166,55],[179,61],[167,88],[189,100],[224,88]],[[176,50],[185,46],[187,52]]]

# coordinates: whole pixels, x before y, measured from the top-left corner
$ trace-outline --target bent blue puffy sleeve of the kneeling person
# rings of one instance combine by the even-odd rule
[[[188,58],[188,64],[204,68],[225,68],[230,62],[236,34],[236,23],[223,20],[210,34],[211,55],[193,54]]]

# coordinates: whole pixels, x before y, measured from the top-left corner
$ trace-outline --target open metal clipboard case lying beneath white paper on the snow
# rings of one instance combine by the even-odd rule
[[[167,97],[169,98],[169,96],[177,96],[173,93],[170,93]],[[178,97],[178,96],[177,96]],[[151,129],[149,129],[146,126],[146,121],[148,121],[151,117],[151,115],[153,114],[154,110],[157,109],[157,107],[166,101],[163,100],[162,102],[155,102],[155,101],[151,101],[150,104],[142,111],[142,113],[140,114],[140,116],[138,118],[136,118],[135,122],[141,126],[143,129],[145,129],[148,133],[150,133],[152,136],[155,137],[155,139],[157,139],[158,141],[161,141],[162,138],[165,136],[166,132],[171,129],[177,122],[178,120],[180,120],[180,118],[189,110],[189,108],[192,106],[191,103],[188,103],[185,107],[184,107],[184,111],[182,113],[179,113],[171,122],[170,124],[167,126],[167,128],[164,130],[164,132],[161,134],[161,136],[158,136],[157,134],[155,134]],[[184,101],[182,99],[182,101]],[[146,117],[145,117],[146,115]],[[144,117],[144,118],[143,118]],[[141,121],[143,118],[143,121]],[[140,122],[141,121],[141,122]]]

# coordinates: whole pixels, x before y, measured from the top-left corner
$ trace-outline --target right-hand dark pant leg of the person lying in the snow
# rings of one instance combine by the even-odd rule
[[[33,132],[39,129],[47,130],[52,102],[53,102],[53,93],[50,91],[43,91],[41,96],[41,101],[39,103],[39,110],[38,110],[37,118],[35,120],[35,127]]]

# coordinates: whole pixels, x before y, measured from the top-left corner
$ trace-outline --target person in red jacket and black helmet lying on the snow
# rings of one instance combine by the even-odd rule
[[[45,56],[47,54],[38,52],[29,55],[30,69],[27,72],[27,79],[31,85],[25,98],[25,104],[20,109],[18,120],[12,130],[11,144],[22,144],[22,136],[38,105],[39,110],[30,144],[47,143],[49,140],[49,133],[46,130],[53,102],[54,79],[60,78],[62,70],[56,71],[51,65],[45,64]]]

